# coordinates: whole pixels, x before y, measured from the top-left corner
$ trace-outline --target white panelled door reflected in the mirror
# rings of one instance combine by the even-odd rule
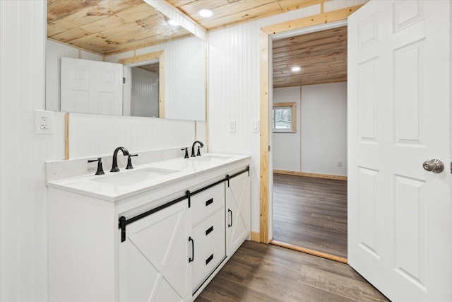
[[[122,64],[61,58],[61,111],[122,115]]]

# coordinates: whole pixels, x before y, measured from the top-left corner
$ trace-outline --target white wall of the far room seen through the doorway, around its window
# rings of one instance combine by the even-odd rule
[[[297,102],[297,133],[273,133],[273,168],[347,176],[347,83],[273,89],[282,102]]]

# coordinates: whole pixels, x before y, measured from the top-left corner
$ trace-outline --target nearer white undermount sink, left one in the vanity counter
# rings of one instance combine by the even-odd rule
[[[138,182],[148,182],[161,178],[162,176],[177,173],[179,170],[166,170],[157,168],[145,168],[142,170],[117,172],[114,175],[99,177],[93,179],[95,182],[107,183],[109,185],[128,186]]]

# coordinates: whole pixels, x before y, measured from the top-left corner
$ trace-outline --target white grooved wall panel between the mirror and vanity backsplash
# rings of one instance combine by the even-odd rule
[[[83,113],[71,113],[69,118],[71,159],[111,155],[118,146],[131,153],[191,146],[194,138],[195,122],[188,120]]]

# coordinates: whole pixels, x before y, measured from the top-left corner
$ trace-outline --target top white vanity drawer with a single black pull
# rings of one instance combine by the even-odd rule
[[[224,182],[191,197],[191,221],[193,225],[225,206]]]

